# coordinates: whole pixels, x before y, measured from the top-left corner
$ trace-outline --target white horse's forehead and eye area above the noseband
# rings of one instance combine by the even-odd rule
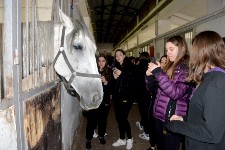
[[[78,69],[78,71],[83,73],[98,74],[97,65],[94,64],[94,66],[92,66],[93,62],[96,62],[96,44],[90,37],[86,28],[84,28],[79,21],[74,21],[73,30],[66,33],[64,38],[64,50],[68,55],[68,60],[73,64],[74,69]]]

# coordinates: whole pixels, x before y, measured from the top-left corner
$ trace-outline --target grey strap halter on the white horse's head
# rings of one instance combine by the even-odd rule
[[[71,71],[71,76],[70,76],[70,79],[69,81],[67,81],[64,77],[62,77],[62,80],[63,80],[63,83],[65,84],[67,90],[71,90],[71,83],[73,82],[74,78],[76,76],[80,76],[80,77],[88,77],[88,78],[101,78],[101,75],[100,74],[90,74],[90,73],[81,73],[81,72],[77,72],[75,69],[73,69],[72,65],[70,64],[69,60],[68,60],[68,57],[66,56],[66,53],[64,51],[64,36],[65,36],[65,30],[66,30],[66,27],[63,26],[63,29],[62,29],[62,36],[61,36],[61,45],[60,45],[60,48],[59,48],[59,51],[57,53],[57,55],[55,56],[55,59],[53,61],[53,66],[55,66],[55,63],[57,61],[57,59],[59,58],[60,54],[63,55],[63,58],[68,66],[68,68],[70,69]],[[73,89],[74,90],[74,89]]]

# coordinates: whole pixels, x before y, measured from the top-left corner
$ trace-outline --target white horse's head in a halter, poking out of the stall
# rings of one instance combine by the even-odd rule
[[[96,44],[77,3],[73,9],[76,11],[75,20],[59,10],[60,23],[54,25],[54,68],[79,94],[81,107],[95,109],[103,98],[95,58]]]

